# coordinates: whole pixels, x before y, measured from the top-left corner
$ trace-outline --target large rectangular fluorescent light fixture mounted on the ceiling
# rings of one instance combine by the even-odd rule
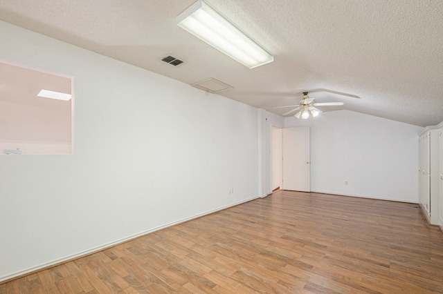
[[[248,68],[274,60],[266,50],[249,39],[204,1],[197,1],[177,16],[177,26],[220,50]]]

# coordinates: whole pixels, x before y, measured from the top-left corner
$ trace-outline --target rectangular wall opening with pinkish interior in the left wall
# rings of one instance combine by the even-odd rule
[[[69,77],[0,62],[0,154],[72,154],[72,88]]]

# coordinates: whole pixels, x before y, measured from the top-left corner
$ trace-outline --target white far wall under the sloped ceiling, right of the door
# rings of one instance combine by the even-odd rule
[[[349,110],[288,117],[285,126],[311,127],[311,191],[418,202],[422,127]]]

